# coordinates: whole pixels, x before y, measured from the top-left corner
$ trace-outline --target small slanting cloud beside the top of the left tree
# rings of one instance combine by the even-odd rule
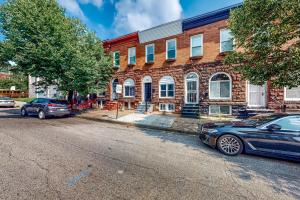
[[[76,0],[58,0],[58,3],[71,15],[78,17],[83,22],[88,21]]]

